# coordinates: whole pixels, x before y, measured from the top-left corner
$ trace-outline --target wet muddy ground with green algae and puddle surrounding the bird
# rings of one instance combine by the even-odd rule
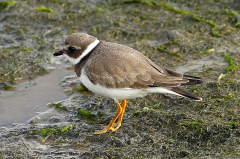
[[[239,8],[238,0],[1,1],[0,158],[239,158]],[[116,107],[52,57],[73,32],[202,77],[186,89],[203,101],[128,100],[121,128],[94,135]]]

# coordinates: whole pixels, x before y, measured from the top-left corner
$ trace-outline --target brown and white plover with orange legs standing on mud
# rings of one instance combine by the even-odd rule
[[[63,49],[53,55],[65,56],[74,65],[77,77],[90,91],[116,102],[114,118],[94,134],[119,129],[127,99],[144,97],[149,93],[167,93],[202,101],[201,97],[179,87],[204,83],[200,77],[160,67],[126,45],[100,41],[92,35],[79,32],[70,34]]]

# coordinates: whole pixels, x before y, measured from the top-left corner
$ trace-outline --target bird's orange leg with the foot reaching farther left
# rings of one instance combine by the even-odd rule
[[[117,101],[117,112],[113,118],[113,120],[108,124],[108,126],[106,126],[106,128],[104,128],[103,130],[97,130],[96,132],[94,132],[94,134],[102,134],[107,132],[108,130],[112,130],[112,131],[116,131],[116,128],[113,128],[113,124],[115,123],[115,121],[117,120],[117,118],[119,117],[119,115],[122,113],[123,109],[121,107],[121,105],[119,104],[119,102]],[[121,123],[120,123],[121,124]]]

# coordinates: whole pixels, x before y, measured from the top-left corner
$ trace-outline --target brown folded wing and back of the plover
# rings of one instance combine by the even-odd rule
[[[100,51],[102,49],[105,51]],[[94,50],[93,56],[86,66],[86,74],[93,84],[141,89],[174,87],[189,81],[181,74],[157,66],[142,53],[128,46],[104,42]]]

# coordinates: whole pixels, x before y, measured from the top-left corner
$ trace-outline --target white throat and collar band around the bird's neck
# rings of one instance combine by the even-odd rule
[[[72,58],[72,57],[69,57],[66,54],[63,54],[63,55],[71,62],[71,64],[76,65],[76,64],[78,64],[81,61],[81,59],[83,57],[85,57],[89,52],[91,52],[92,49],[94,49],[97,46],[98,43],[99,43],[99,40],[96,39],[93,43],[91,43],[87,47],[87,49],[78,58]]]

